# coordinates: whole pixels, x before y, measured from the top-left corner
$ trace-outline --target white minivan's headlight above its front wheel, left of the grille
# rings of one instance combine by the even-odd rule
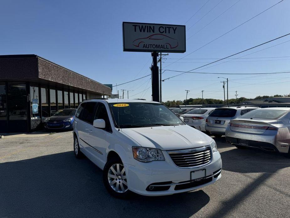
[[[162,151],[153,148],[132,147],[134,159],[141,162],[164,161]]]

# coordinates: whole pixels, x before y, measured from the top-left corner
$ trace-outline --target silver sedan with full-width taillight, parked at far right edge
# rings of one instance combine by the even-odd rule
[[[226,141],[237,148],[290,153],[290,108],[272,107],[250,111],[229,122]]]

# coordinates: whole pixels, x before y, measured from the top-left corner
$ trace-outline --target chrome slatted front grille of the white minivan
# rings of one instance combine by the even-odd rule
[[[168,151],[172,161],[179,167],[197,167],[206,165],[211,161],[210,146]]]

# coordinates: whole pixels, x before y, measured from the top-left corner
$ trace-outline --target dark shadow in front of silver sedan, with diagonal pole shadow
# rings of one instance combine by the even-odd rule
[[[254,149],[231,149],[220,153],[223,160],[223,170],[238,173],[260,173],[258,176],[243,174],[252,181],[240,189],[233,197],[223,202],[223,206],[216,210],[212,217],[225,217],[235,210],[245,199],[252,195],[262,185],[267,186],[285,196],[290,194],[278,187],[267,185],[267,181],[280,169],[290,166],[290,159],[276,153],[265,153]],[[239,186],[239,181],[237,181]],[[286,203],[287,204],[287,203]]]

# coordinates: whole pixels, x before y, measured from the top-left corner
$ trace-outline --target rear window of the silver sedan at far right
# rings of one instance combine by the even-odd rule
[[[244,114],[242,117],[266,118],[276,120],[289,111],[257,109]]]

